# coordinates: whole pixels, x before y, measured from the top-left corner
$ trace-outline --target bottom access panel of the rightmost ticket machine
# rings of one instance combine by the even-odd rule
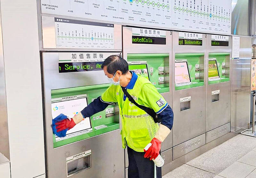
[[[212,140],[215,140],[216,138],[219,138],[229,132],[230,132],[230,122],[216,129],[210,130],[209,132],[206,132],[206,143],[209,143]]]

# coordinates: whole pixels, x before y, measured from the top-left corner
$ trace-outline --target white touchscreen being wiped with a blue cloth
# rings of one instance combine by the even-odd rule
[[[65,100],[68,98],[68,100]],[[75,98],[75,99],[69,99]],[[60,100],[54,99],[52,101],[52,119],[60,114],[67,115],[72,118],[78,112],[83,110],[87,106],[87,98],[78,98],[76,96],[60,98]],[[84,120],[75,125],[72,129],[68,130],[66,137],[58,137],[55,135],[56,142],[64,140],[71,137],[76,137],[92,131],[92,124],[89,117],[84,118]]]

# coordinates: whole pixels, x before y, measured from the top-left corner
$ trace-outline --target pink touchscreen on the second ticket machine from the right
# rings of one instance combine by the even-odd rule
[[[175,62],[175,84],[190,83],[190,76],[188,72],[187,62]]]

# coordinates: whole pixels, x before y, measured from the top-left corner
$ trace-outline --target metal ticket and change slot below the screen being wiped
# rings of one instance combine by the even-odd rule
[[[67,162],[67,176],[71,176],[78,172],[91,167],[91,154],[79,159],[71,160]]]

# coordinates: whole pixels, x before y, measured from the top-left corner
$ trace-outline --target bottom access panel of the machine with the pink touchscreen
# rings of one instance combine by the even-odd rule
[[[205,133],[173,147],[173,160],[205,145]]]

